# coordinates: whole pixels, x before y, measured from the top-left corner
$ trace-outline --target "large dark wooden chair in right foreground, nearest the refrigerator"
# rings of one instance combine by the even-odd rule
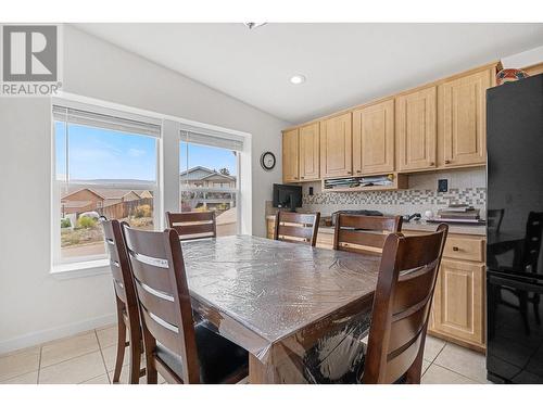
[[[430,307],[447,231],[446,225],[440,225],[429,234],[387,237],[367,345],[362,338],[367,332],[365,327],[342,329],[342,347],[348,351],[336,360],[330,356],[330,343],[319,341],[304,360],[311,364],[305,372],[310,382],[420,383]],[[352,336],[355,331],[358,333]],[[333,343],[338,341],[333,338]],[[315,355],[325,355],[326,360],[320,356],[313,360]]]

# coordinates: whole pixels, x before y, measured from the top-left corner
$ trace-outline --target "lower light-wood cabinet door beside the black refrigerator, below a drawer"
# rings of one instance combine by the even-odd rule
[[[434,331],[484,344],[484,265],[443,259],[433,297]]]

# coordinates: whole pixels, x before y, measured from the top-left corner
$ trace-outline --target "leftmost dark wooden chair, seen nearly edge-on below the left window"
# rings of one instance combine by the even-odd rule
[[[139,378],[146,374],[144,369],[140,369],[142,348],[141,326],[139,319],[138,302],[130,272],[128,254],[118,220],[108,220],[102,218],[103,234],[105,245],[110,254],[110,267],[115,289],[115,300],[117,306],[117,356],[115,359],[115,371],[113,383],[118,383],[125,349],[130,348],[129,378],[130,384],[138,384]],[[129,340],[126,341],[128,331]]]

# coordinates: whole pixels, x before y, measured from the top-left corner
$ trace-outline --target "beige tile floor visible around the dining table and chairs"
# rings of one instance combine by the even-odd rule
[[[110,326],[0,355],[0,383],[109,384],[116,335],[116,327]],[[122,383],[127,382],[127,371],[123,369]],[[431,336],[427,338],[422,371],[422,384],[488,383],[483,355]],[[159,382],[164,380],[159,378]]]

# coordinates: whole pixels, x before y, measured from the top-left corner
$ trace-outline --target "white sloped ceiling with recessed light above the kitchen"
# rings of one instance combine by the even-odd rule
[[[543,44],[543,24],[76,26],[291,123]]]

